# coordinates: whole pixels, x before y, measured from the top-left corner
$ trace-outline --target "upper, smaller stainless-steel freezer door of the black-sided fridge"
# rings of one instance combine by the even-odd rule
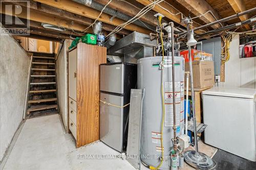
[[[100,91],[124,93],[124,64],[100,65]]]

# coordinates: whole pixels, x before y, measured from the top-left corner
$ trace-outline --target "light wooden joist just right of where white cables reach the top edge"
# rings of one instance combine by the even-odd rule
[[[144,6],[147,6],[149,4],[152,3],[152,1],[150,0],[136,0],[138,3],[143,4]],[[161,7],[160,7],[161,6]],[[166,4],[165,2],[161,2],[157,5],[155,5],[155,7],[153,8],[154,11],[164,15],[165,17],[173,20],[174,22],[178,23],[181,26],[186,27],[186,25],[184,25],[183,23],[181,23],[181,14],[178,15],[173,15],[170,12],[164,10],[163,8],[167,9],[168,11],[170,11],[173,14],[177,14],[179,13],[179,11],[177,11],[175,8],[173,8],[172,6],[169,6],[168,4]],[[201,25],[198,25],[197,23],[193,23],[194,27],[199,27]],[[204,31],[198,30],[196,31],[196,33],[203,33]]]

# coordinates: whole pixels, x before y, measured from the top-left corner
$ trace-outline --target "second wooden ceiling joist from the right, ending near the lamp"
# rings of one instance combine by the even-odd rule
[[[216,19],[221,19],[222,17],[212,8],[205,0],[176,0],[179,4],[181,4],[184,8],[188,9],[191,13],[196,16],[203,15],[207,11],[211,11],[212,14],[216,17]],[[212,16],[210,12],[206,13],[205,15],[199,17],[205,23],[211,23],[216,21],[215,17]],[[220,24],[216,24],[211,26],[214,29],[218,29],[221,27]]]

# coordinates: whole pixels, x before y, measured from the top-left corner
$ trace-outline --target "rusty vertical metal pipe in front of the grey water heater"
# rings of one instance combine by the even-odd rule
[[[170,22],[172,27],[172,71],[173,71],[173,111],[174,111],[174,150],[177,150],[177,139],[176,139],[176,106],[175,106],[175,60],[174,60],[174,22]]]

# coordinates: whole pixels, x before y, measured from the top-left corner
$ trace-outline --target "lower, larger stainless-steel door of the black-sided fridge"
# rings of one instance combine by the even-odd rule
[[[101,92],[100,100],[123,106],[123,96]],[[100,140],[119,152],[123,151],[123,108],[100,102]]]

